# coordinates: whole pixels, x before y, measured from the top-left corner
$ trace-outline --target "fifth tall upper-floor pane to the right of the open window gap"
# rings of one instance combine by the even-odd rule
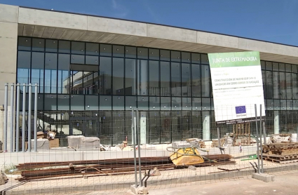
[[[158,61],[149,61],[149,95],[160,95]]]

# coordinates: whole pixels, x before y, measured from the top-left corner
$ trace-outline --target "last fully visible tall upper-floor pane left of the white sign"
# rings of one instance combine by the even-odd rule
[[[201,97],[201,65],[191,65],[191,88],[193,97]]]

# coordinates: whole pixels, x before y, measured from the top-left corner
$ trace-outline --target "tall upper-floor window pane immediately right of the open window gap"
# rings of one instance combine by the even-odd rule
[[[111,95],[111,58],[100,57],[100,94]]]

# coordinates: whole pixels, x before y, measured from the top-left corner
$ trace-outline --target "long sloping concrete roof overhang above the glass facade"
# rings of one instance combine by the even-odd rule
[[[259,51],[262,60],[298,65],[298,47],[145,22],[18,7],[18,35],[198,53]]]

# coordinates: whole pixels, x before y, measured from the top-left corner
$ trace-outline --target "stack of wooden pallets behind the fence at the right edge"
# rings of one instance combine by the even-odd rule
[[[298,142],[263,145],[263,159],[281,164],[298,162]]]

